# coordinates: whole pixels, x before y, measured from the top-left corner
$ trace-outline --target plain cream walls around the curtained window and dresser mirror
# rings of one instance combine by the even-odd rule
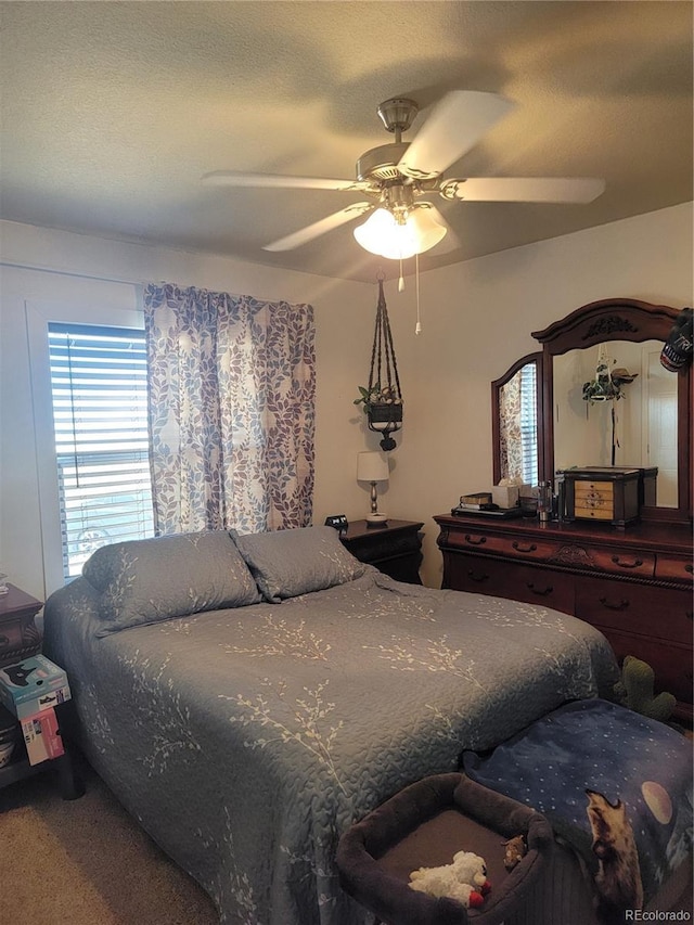
[[[57,271],[5,266],[1,280],[0,567],[11,581],[39,596],[47,590],[37,479],[43,441],[35,432],[25,303],[107,305],[121,317],[134,309],[131,285],[72,274],[167,280],[311,303],[318,356],[314,522],[332,513],[363,516],[368,496],[355,481],[355,457],[376,449],[377,439],[351,402],[369,375],[375,285],[12,222],[1,231],[5,265]],[[490,383],[538,348],[530,332],[612,296],[691,305],[692,253],[692,204],[685,204],[435,270],[421,280],[420,336],[414,281],[408,279],[402,294],[387,285],[406,420],[380,506],[425,523],[425,583],[440,583],[432,516],[449,511],[462,491],[491,484]]]

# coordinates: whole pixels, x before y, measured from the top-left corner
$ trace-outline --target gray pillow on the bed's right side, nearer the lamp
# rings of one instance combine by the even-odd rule
[[[333,527],[297,527],[239,536],[234,542],[271,604],[361,577],[367,566],[347,552]]]

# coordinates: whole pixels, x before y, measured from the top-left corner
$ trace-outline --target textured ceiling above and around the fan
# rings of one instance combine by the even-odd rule
[[[397,268],[363,252],[351,223],[295,250],[262,249],[362,194],[217,189],[201,176],[351,179],[363,151],[393,140],[378,103],[407,95],[424,108],[450,89],[501,93],[516,108],[447,176],[607,188],[589,205],[437,198],[455,236],[423,269],[693,198],[691,2],[0,8],[4,219],[372,281]]]

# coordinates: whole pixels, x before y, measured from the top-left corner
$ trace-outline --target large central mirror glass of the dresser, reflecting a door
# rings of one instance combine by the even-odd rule
[[[657,466],[658,506],[677,506],[677,376],[660,365],[660,341],[611,341],[612,369],[638,375],[614,401],[583,400],[595,378],[600,346],[554,357],[554,463],[556,470],[612,464]],[[613,431],[614,411],[614,431]]]

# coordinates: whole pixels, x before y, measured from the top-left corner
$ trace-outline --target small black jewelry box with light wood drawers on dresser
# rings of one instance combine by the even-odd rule
[[[639,519],[645,498],[641,468],[589,466],[567,468],[564,477],[566,517],[603,521],[624,527]],[[650,492],[648,480],[648,494]]]

